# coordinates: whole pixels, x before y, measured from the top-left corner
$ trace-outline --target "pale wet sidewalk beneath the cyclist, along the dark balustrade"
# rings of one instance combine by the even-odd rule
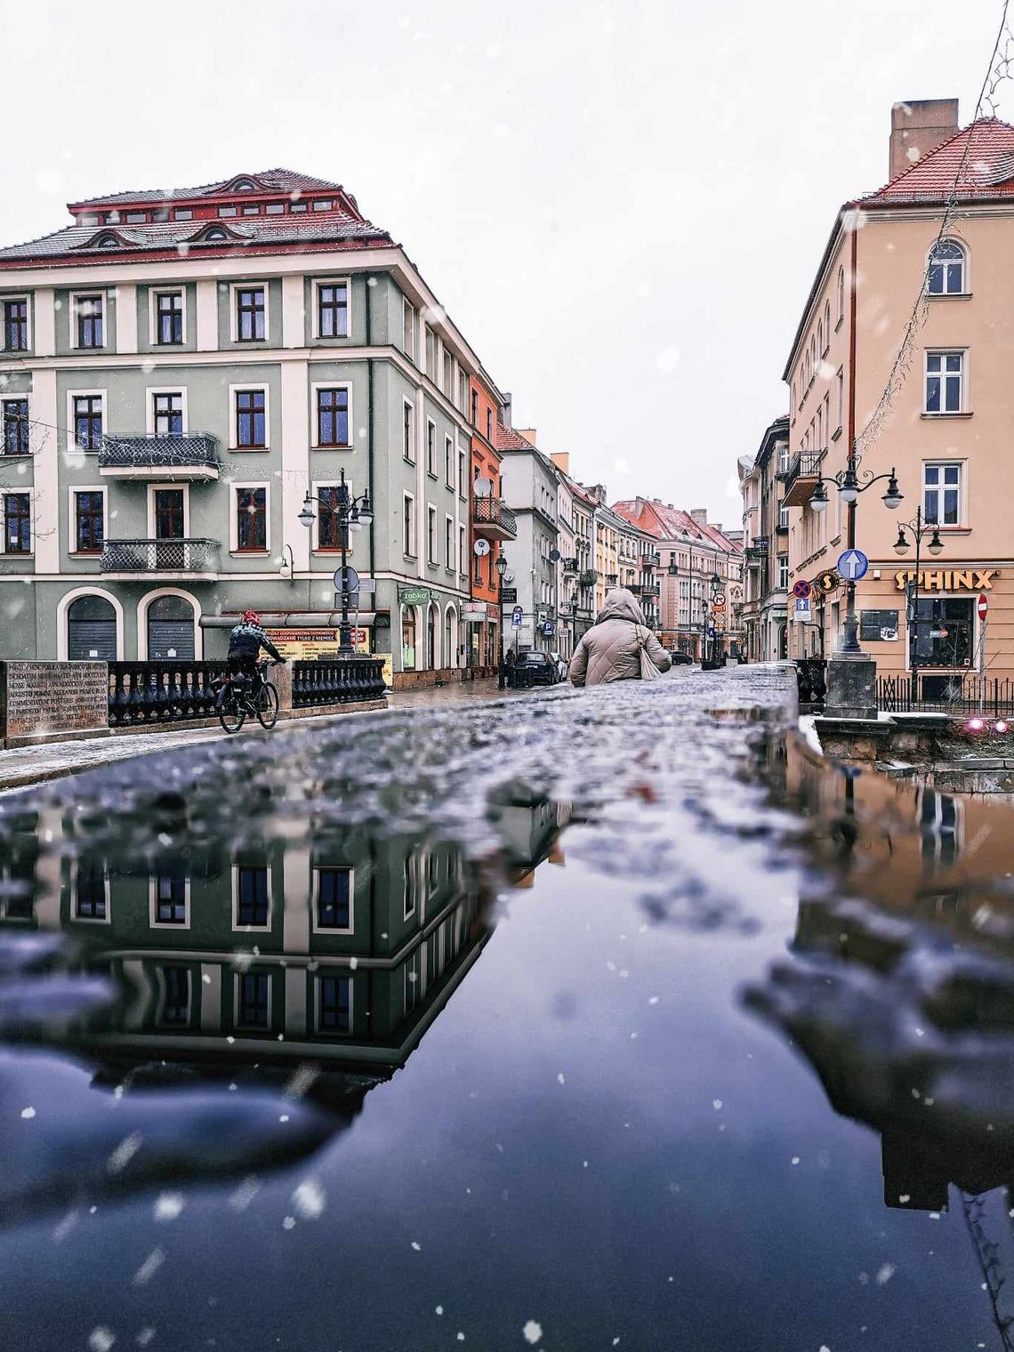
[[[569,687],[557,687],[561,694]],[[454,683],[438,690],[407,691],[391,695],[388,708],[373,710],[380,718],[406,708],[443,708],[448,704],[473,704],[495,699],[523,699],[529,691],[498,690],[496,679],[477,680],[468,684]],[[312,727],[316,723],[333,722],[337,718],[365,718],[366,714],[322,714],[319,718],[300,719],[295,726]],[[260,734],[260,727],[245,727],[237,737]],[[173,727],[165,731],[112,733],[110,737],[95,737],[85,741],[55,742],[51,746],[20,746],[14,750],[0,750],[0,794],[47,779],[59,779],[80,771],[96,769],[114,761],[130,760],[150,752],[173,750],[177,746],[192,746],[196,742],[223,740],[227,734],[220,727]],[[269,735],[269,734],[262,734]]]

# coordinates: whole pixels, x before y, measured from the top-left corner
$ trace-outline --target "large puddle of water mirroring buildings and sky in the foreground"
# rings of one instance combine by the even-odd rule
[[[8,800],[0,1345],[1005,1347],[1010,813],[749,677]]]

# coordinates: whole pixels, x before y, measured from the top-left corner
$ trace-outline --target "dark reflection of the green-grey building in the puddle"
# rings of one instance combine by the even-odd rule
[[[151,1137],[153,1114],[143,1114],[157,1092],[158,1129],[172,1137],[178,1121],[178,1140],[165,1142],[154,1176],[169,1161],[181,1180],[242,1174],[254,1156],[260,1167],[288,1163],[347,1126],[369,1090],[404,1065],[481,956],[498,890],[558,857],[568,819],[564,804],[507,791],[488,807],[499,844],[469,859],[449,838],[312,817],[301,830],[283,821],[270,838],[254,827],[249,838],[204,838],[185,808],[141,844],[124,831],[116,848],[116,823],[101,814],[8,810],[0,1029],[8,1044],[57,1048],[87,1068],[89,1094],[68,1103],[84,1153],[89,1115],[99,1124],[114,1096],[130,1101],[137,1134]],[[34,1055],[8,1052],[0,1084],[30,1103],[53,1071],[51,1051],[50,1061]],[[43,1088],[32,1090],[39,1067]],[[199,1133],[188,1114],[195,1091],[201,1111],[212,1109]],[[235,1157],[226,1144],[203,1160],[220,1105],[242,1113],[265,1092],[264,1121],[273,1133],[291,1128],[288,1146],[270,1133],[257,1140],[250,1113]],[[234,1125],[223,1119],[223,1140]],[[107,1134],[96,1128],[101,1165]],[[87,1190],[80,1160],[59,1178],[38,1156],[26,1160],[20,1191],[16,1172],[0,1188],[0,1215]],[[101,1168],[96,1176],[105,1190],[111,1180]]]

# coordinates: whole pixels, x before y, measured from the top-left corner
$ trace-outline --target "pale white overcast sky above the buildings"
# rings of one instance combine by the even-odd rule
[[[611,500],[738,525],[735,458],[786,410],[837,206],[887,178],[895,100],[972,116],[999,9],[8,5],[0,239],[123,188],[334,178],[514,393],[515,426]]]

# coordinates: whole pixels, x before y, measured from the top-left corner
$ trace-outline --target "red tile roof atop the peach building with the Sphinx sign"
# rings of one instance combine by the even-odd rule
[[[863,203],[940,201],[955,191],[963,199],[1014,195],[1014,127],[980,118]]]

